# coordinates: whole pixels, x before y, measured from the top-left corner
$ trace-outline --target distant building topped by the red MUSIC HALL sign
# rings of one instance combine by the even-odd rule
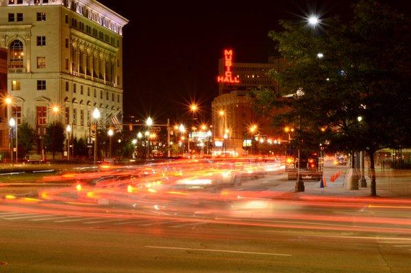
[[[227,151],[241,155],[244,146],[254,137],[249,132],[251,125],[258,125],[258,133],[269,135],[273,129],[269,120],[253,113],[251,99],[247,94],[252,88],[269,88],[279,91],[278,83],[269,79],[269,70],[282,70],[284,59],[270,57],[266,64],[232,62],[229,71],[238,83],[219,83],[219,96],[212,101],[212,134],[214,151]],[[219,75],[223,75],[225,62],[219,60]]]

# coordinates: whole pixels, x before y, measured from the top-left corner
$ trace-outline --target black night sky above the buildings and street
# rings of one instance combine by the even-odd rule
[[[274,50],[267,34],[279,19],[303,20],[310,11],[347,18],[353,1],[184,2],[101,0],[129,19],[123,31],[126,113],[173,120],[195,100],[207,118],[224,48],[234,49],[237,62],[266,62]],[[410,11],[406,1],[386,2]]]

